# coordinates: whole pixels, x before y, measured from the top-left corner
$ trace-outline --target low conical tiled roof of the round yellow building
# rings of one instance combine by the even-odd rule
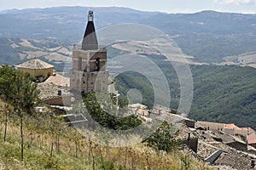
[[[43,70],[43,69],[54,68],[54,65],[49,65],[48,63],[46,63],[40,59],[30,59],[30,60],[26,61],[25,63],[17,65],[17,68]]]

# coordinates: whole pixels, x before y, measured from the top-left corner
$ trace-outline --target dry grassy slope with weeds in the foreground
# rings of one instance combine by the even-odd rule
[[[20,129],[10,119],[8,138],[3,142],[3,114],[0,115],[0,165],[4,169],[209,169],[179,151],[167,154],[137,144],[126,148],[110,148],[89,143],[72,127],[49,116],[25,118],[24,161],[20,161]],[[56,134],[59,133],[59,151]],[[53,156],[50,148],[53,144]],[[77,145],[77,147],[76,147]],[[91,145],[91,147],[89,146]],[[89,153],[90,151],[90,153]],[[1,167],[0,166],[0,167]]]

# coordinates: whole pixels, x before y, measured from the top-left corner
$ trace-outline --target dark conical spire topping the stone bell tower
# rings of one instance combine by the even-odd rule
[[[82,49],[84,50],[98,49],[98,41],[97,41],[96,31],[93,23],[93,11],[91,10],[88,13],[88,23],[84,32]]]

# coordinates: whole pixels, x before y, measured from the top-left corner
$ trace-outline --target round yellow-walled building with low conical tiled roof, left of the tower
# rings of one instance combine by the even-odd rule
[[[54,65],[49,65],[40,59],[30,59],[16,67],[19,71],[28,74],[36,82],[44,82],[53,75],[54,70]]]

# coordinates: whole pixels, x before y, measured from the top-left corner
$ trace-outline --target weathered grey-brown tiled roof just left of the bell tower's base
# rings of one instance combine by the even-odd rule
[[[67,90],[61,89],[53,82],[38,83],[38,90],[40,90],[39,98],[42,100],[55,99],[64,96],[73,96],[73,94]],[[58,94],[59,90],[61,90],[61,95]]]

